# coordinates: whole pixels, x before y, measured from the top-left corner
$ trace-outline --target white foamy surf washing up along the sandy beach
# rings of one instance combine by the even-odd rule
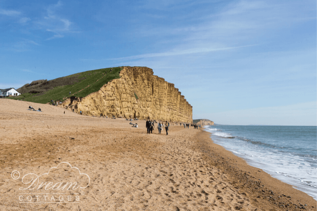
[[[304,158],[293,153],[280,152],[275,149],[269,149],[266,146],[246,142],[239,138],[223,139],[233,137],[230,133],[226,133],[223,130],[210,132],[215,143],[243,157],[252,166],[263,169],[273,177],[294,185],[314,199],[317,199],[317,170],[312,168],[311,163]]]

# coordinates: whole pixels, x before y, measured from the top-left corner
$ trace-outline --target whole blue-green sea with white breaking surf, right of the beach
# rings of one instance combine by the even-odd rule
[[[317,200],[316,126],[205,126],[214,143]]]

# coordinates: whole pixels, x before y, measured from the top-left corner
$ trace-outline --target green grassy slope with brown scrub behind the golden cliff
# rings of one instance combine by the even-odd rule
[[[91,70],[50,81],[34,81],[17,89],[23,94],[8,98],[35,103],[50,103],[51,99],[63,101],[71,96],[85,97],[100,90],[104,84],[111,80],[120,78],[121,67],[112,68],[111,73],[110,70],[111,68]],[[69,92],[71,92],[70,95]]]

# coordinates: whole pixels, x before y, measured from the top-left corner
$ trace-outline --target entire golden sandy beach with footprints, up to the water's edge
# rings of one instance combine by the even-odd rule
[[[43,112],[29,111],[29,105]],[[157,129],[147,134],[145,122],[137,123],[134,128],[122,119],[0,99],[0,210],[316,211],[312,197],[248,166],[202,129],[171,126],[166,136]],[[25,174],[40,175],[62,162],[90,181],[67,164],[42,181],[78,179],[88,187],[19,190],[28,186]]]

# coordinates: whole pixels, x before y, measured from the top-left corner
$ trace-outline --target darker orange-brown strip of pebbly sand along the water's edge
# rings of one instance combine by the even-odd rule
[[[224,147],[213,143],[211,133],[202,129],[196,146],[215,167],[230,175],[233,185],[239,191],[248,193],[253,203],[261,209],[316,210],[317,202],[307,193],[282,182],[262,169],[250,166],[244,159],[234,155]],[[252,185],[253,184],[253,185]],[[284,204],[283,204],[284,203]],[[287,205],[280,207],[279,205]]]

